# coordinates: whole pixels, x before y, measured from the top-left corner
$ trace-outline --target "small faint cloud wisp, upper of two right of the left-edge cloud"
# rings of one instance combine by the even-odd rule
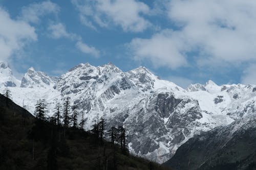
[[[58,39],[58,38],[69,38],[69,39],[79,39],[79,36],[73,33],[68,33],[66,27],[62,23],[51,23],[48,27],[50,31],[51,37]]]

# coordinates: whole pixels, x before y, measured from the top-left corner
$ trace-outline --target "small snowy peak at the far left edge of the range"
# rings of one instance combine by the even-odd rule
[[[0,62],[0,84],[7,87],[20,85],[20,81],[12,75],[12,70],[6,62]]]

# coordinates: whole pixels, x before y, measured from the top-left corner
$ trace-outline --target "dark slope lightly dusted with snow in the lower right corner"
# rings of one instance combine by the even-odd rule
[[[164,165],[177,170],[256,169],[256,120],[242,121],[190,138]]]

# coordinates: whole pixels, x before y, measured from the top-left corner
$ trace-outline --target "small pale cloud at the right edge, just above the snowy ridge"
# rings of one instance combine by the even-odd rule
[[[244,70],[244,75],[241,79],[243,84],[256,85],[256,64],[251,64]]]

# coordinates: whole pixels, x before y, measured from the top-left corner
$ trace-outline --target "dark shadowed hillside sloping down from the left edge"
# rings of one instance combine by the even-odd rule
[[[41,113],[34,118],[0,94],[0,169],[169,169],[101,140],[100,131],[58,125]]]

